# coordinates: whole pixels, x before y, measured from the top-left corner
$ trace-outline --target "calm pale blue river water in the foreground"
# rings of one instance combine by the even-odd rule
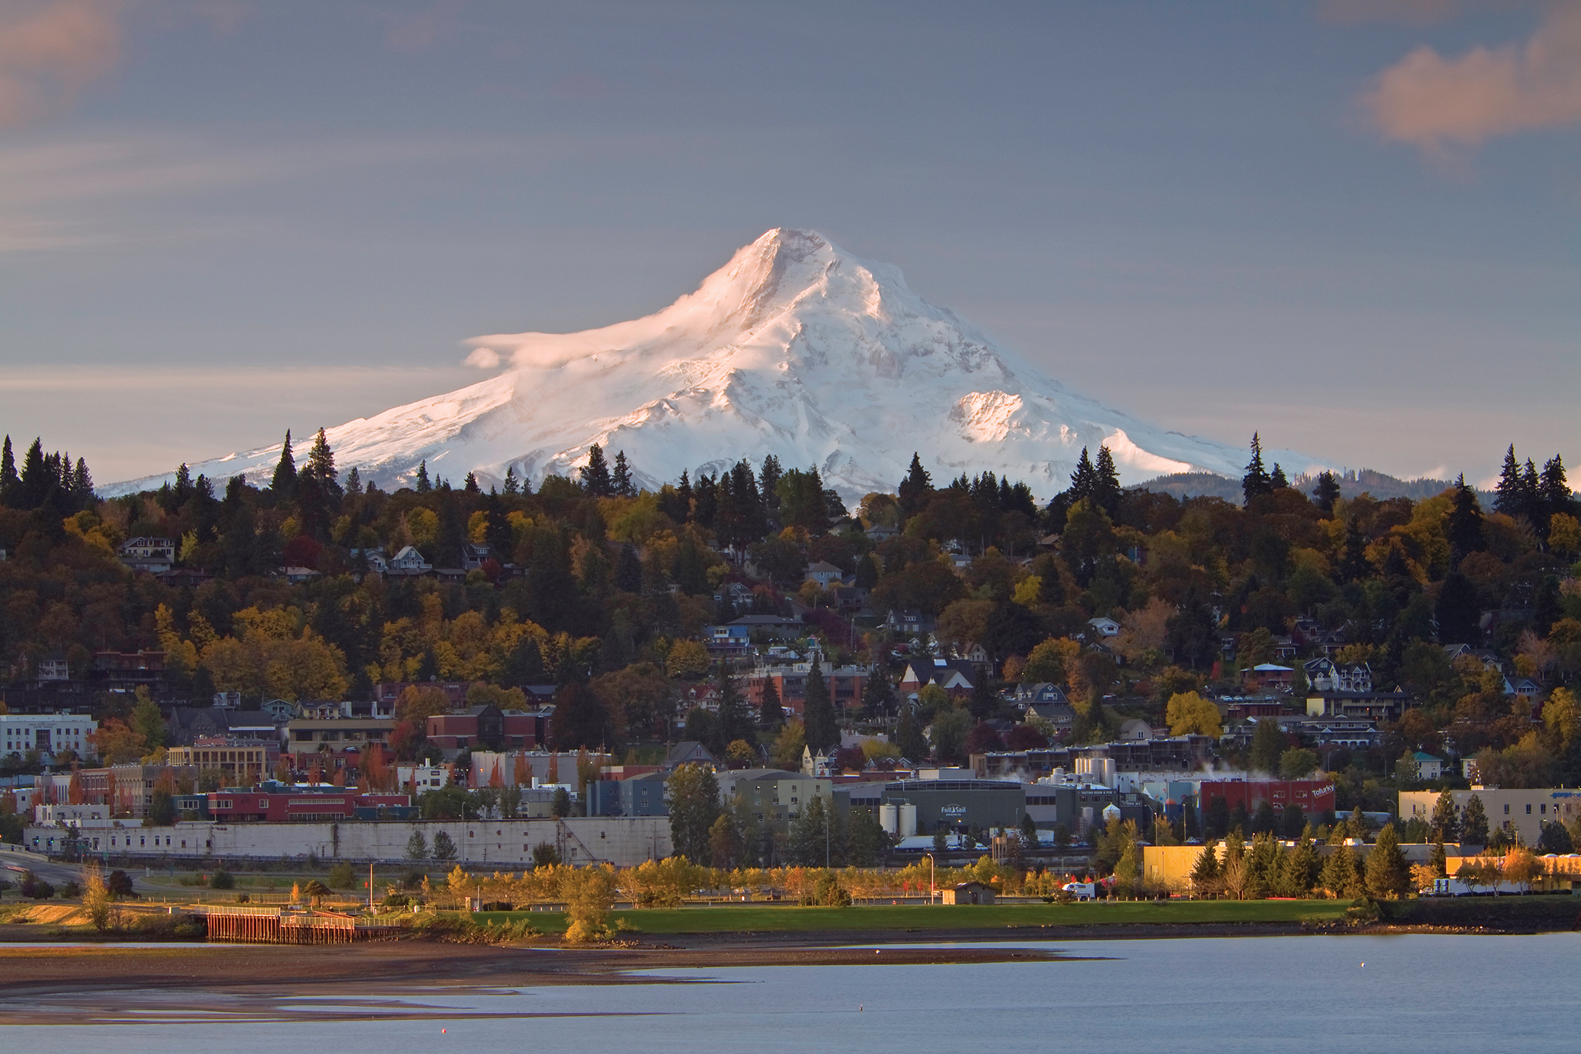
[[[994,945],[1006,947],[1006,945]],[[1246,937],[1034,943],[1083,959],[972,966],[650,970],[681,984],[446,989],[365,1002],[289,1000],[288,1019],[164,1013],[115,994],[125,1019],[11,1026],[11,1051],[746,1051],[1572,1049],[1581,935]],[[130,1000],[130,1002],[128,1002]],[[443,1029],[443,1032],[441,1032]]]

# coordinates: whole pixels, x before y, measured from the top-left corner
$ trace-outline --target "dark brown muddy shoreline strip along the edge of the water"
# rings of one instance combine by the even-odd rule
[[[645,970],[756,966],[906,966],[1081,961],[1037,943],[1225,937],[1339,935],[1537,935],[1568,928],[1445,926],[1399,923],[1092,923],[952,931],[803,931],[637,937],[620,945],[563,948],[530,943],[391,940],[354,945],[139,943],[115,939],[46,937],[32,926],[0,926],[0,1022],[14,1019],[17,997],[171,989],[278,997],[321,992],[324,984],[443,988],[533,988],[544,984],[655,984],[680,978],[637,977]],[[9,931],[9,932],[6,932]],[[22,947],[25,942],[25,947]],[[974,945],[974,947],[969,947]],[[987,947],[983,947],[987,945]],[[998,945],[998,947],[996,947]],[[694,983],[694,981],[692,981]],[[338,991],[338,989],[337,989]]]

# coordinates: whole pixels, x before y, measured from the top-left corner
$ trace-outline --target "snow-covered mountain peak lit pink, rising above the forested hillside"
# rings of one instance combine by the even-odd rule
[[[936,482],[991,469],[1039,498],[1067,485],[1081,447],[1108,444],[1121,479],[1240,476],[1246,449],[1164,431],[1066,390],[971,322],[906,288],[900,270],[809,231],[775,229],[696,292],[647,318],[580,333],[479,337],[468,362],[498,376],[327,430],[335,461],[381,487],[419,461],[487,488],[514,466],[534,485],[588,447],[624,450],[645,487],[741,457],[816,465],[847,501],[893,490],[912,452]],[[299,436],[299,447],[305,449]],[[302,449],[299,449],[299,457]],[[267,484],[280,446],[193,463]],[[1317,463],[1270,452],[1290,474]],[[153,476],[101,488],[158,487]]]

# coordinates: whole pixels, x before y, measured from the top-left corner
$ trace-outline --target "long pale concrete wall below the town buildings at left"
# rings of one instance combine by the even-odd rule
[[[549,842],[566,863],[612,863],[632,868],[670,855],[667,817],[568,817],[564,820],[345,820],[340,823],[177,823],[174,826],[84,828],[89,853],[153,856],[185,861],[218,860],[406,860],[413,831],[427,845],[440,831],[455,844],[455,861],[479,868],[517,869],[530,864],[533,847]],[[58,852],[70,831],[30,826],[24,844]],[[95,844],[98,842],[98,844]]]

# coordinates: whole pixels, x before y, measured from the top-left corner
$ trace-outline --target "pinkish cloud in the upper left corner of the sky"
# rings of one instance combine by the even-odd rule
[[[6,0],[0,5],[0,126],[49,112],[114,68],[114,0]]]

